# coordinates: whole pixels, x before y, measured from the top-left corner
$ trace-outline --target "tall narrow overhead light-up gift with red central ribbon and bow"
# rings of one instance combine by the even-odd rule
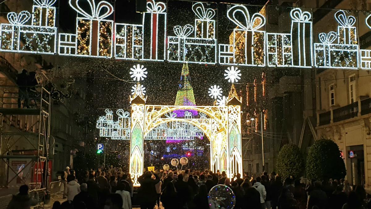
[[[165,60],[166,53],[166,5],[147,0],[147,12],[143,15],[144,59]]]

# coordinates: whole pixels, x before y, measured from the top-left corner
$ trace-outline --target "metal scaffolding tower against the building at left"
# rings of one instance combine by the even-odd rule
[[[0,86],[2,186],[48,189],[50,102],[43,86]]]

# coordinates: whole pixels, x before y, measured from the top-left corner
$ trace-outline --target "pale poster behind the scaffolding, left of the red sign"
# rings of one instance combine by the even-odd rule
[[[22,186],[31,182],[30,168],[32,159],[9,159],[8,185]],[[13,172],[14,171],[14,172]],[[13,179],[13,180],[12,180]]]

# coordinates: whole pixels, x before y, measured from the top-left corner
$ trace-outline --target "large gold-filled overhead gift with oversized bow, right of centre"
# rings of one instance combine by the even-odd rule
[[[233,29],[234,62],[244,65],[259,64],[256,54],[265,50],[265,31],[259,29],[265,25],[265,17],[260,13],[250,17],[247,8],[241,5],[231,7],[227,16],[238,26]],[[244,18],[240,21],[239,17]]]

